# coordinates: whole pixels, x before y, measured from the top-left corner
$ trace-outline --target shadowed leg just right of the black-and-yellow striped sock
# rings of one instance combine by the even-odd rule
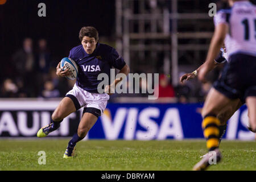
[[[217,115],[217,118],[220,119],[220,142],[222,137],[226,132],[227,122],[232,117],[232,115],[243,105],[239,98],[236,101],[232,102],[232,104],[226,106],[221,112]]]

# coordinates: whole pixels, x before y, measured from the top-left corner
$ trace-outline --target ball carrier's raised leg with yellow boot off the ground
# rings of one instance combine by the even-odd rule
[[[60,104],[57,106],[51,117],[51,123],[47,126],[42,127],[38,133],[38,137],[46,137],[52,131],[57,130],[60,127],[60,123],[65,117],[69,114],[76,111],[76,106],[74,102],[69,97],[64,97],[60,101]]]

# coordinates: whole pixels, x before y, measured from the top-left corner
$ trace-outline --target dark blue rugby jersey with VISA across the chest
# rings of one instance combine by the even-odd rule
[[[100,73],[109,76],[110,84],[110,69],[112,67],[122,69],[126,64],[113,47],[101,43],[97,43],[96,49],[90,55],[85,52],[82,45],[74,47],[68,57],[78,66],[76,84],[91,93],[98,93],[97,86],[102,81],[97,80]]]

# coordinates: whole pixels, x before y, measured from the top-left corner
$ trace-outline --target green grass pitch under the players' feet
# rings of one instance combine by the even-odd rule
[[[86,140],[76,158],[63,159],[68,139],[0,140],[2,170],[191,170],[207,152],[205,140]],[[222,161],[209,170],[256,170],[256,142],[221,142]],[[46,152],[40,165],[39,151]]]

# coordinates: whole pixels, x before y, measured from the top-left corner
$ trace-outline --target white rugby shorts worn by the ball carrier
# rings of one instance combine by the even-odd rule
[[[73,89],[70,90],[66,96],[75,96],[69,97],[73,100],[76,110],[80,109],[81,107],[94,107],[96,109],[101,110],[101,115],[103,114],[104,110],[106,109],[106,105],[109,100],[109,95],[106,93],[90,93],[86,90],[80,88],[79,86],[73,86]]]

